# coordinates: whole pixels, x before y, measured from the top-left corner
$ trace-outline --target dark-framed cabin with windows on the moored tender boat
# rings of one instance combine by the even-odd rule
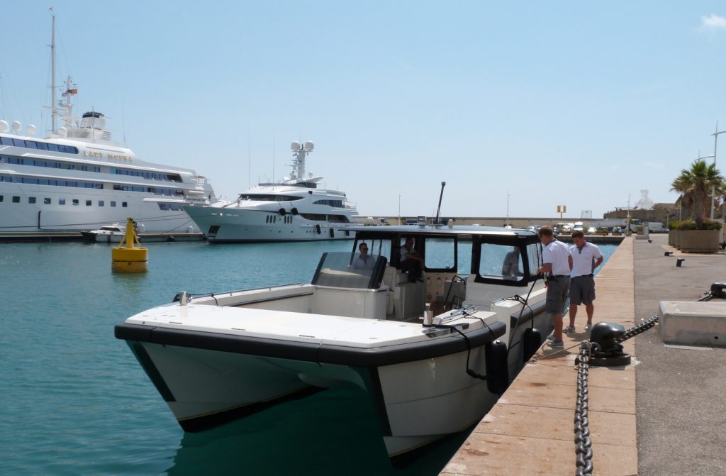
[[[529,230],[409,225],[351,231],[351,263],[362,243],[372,257],[385,259],[375,275],[389,293],[386,319],[417,319],[426,306],[438,315],[524,294],[542,265],[542,246]]]

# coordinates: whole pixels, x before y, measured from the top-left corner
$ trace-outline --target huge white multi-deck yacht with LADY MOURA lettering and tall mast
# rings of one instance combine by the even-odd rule
[[[129,216],[147,232],[198,232],[181,206],[216,201],[207,179],[139,160],[112,140],[102,113],[74,117],[71,98],[78,88],[70,76],[56,100],[54,37],[52,130],[38,139],[36,126],[23,131],[19,121],[0,118],[0,234],[88,230]]]

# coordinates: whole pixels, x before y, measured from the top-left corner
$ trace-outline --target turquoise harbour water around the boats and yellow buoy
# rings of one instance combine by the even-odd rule
[[[107,245],[0,244],[0,474],[436,475],[465,439],[393,467],[354,390],[185,435],[113,326],[179,291],[308,282],[351,242],[147,246],[149,273],[120,275]]]

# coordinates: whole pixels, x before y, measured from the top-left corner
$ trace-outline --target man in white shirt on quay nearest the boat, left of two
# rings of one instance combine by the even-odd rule
[[[537,274],[544,273],[547,277],[547,302],[544,310],[552,314],[555,323],[555,339],[550,342],[550,347],[561,349],[565,347],[562,342],[562,318],[570,291],[572,256],[565,243],[555,240],[552,227],[540,228],[537,235],[542,242],[542,267],[537,270]]]

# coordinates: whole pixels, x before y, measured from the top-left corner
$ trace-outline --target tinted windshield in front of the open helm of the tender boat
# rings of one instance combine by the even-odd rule
[[[325,253],[312,279],[316,286],[346,289],[378,289],[386,268],[386,257],[359,252]]]

